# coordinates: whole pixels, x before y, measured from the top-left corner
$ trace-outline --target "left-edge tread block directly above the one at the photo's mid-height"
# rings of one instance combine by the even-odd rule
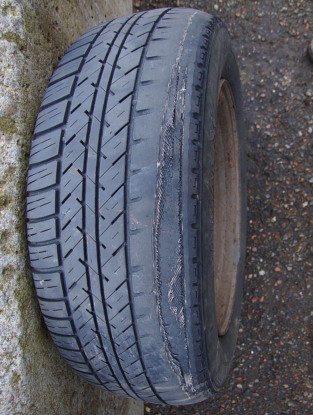
[[[56,184],[58,166],[57,161],[50,161],[50,163],[31,168],[27,174],[27,191],[31,192]]]

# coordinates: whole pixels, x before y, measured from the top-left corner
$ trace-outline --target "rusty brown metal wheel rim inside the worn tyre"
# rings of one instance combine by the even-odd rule
[[[237,287],[241,229],[240,148],[235,102],[220,81],[215,128],[213,261],[218,335],[230,325]]]

